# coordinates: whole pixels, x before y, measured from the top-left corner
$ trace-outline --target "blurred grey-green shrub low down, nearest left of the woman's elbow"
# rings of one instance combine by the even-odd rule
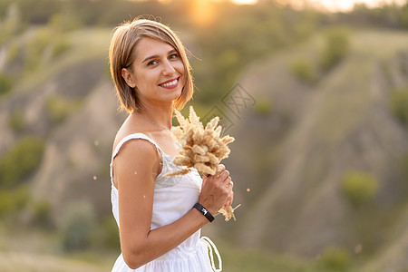
[[[68,206],[60,226],[63,249],[74,251],[89,248],[95,225],[95,213],[91,204],[84,201],[73,202]]]

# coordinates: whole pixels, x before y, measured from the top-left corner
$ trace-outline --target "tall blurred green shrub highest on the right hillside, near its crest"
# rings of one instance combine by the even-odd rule
[[[321,55],[320,66],[327,71],[339,63],[348,53],[350,32],[341,26],[328,28],[325,33],[325,49]]]

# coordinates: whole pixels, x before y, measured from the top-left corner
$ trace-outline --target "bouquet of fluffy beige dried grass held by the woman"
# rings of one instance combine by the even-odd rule
[[[219,162],[228,158],[230,152],[227,146],[228,143],[235,139],[229,135],[220,137],[222,127],[218,125],[218,116],[209,121],[204,128],[193,107],[189,107],[189,119],[184,118],[177,110],[174,112],[180,126],[173,127],[171,131],[182,146],[180,156],[176,157],[174,163],[187,166],[187,168],[170,172],[167,175],[184,175],[191,171],[191,167],[206,176],[214,175],[219,170]],[[224,215],[226,221],[231,218],[235,220],[235,209],[232,207],[222,208],[219,213]]]

